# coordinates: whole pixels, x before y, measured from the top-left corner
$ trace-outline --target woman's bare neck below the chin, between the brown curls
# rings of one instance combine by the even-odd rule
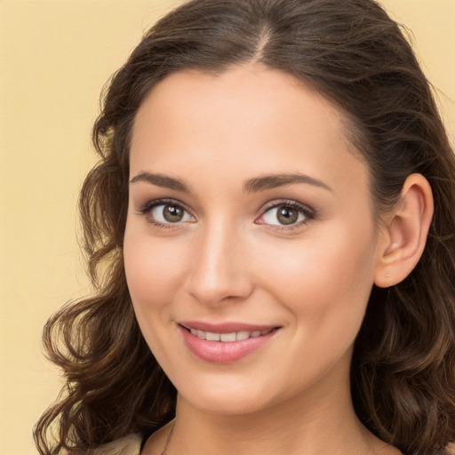
[[[366,455],[385,445],[356,418],[348,380],[243,414],[204,411],[179,396],[176,416],[170,455]]]

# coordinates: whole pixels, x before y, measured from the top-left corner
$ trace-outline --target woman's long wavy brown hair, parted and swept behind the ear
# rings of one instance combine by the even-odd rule
[[[102,99],[93,128],[100,163],[80,197],[96,295],[69,303],[44,328],[67,384],[36,425],[42,455],[88,452],[172,419],[176,390],[142,338],[124,275],[132,122],[173,72],[219,74],[249,61],[313,86],[345,113],[377,212],[399,200],[411,173],[430,182],[426,249],[403,283],[373,287],[352,396],[363,424],[407,454],[445,453],[455,440],[455,160],[402,28],[372,0],[193,0],[148,31]]]

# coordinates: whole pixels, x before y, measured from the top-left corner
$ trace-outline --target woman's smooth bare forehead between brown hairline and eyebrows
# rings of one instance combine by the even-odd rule
[[[182,71],[157,84],[142,103],[131,172],[153,168],[215,181],[304,172],[329,186],[353,178],[366,183],[366,167],[345,125],[331,102],[274,69],[245,65],[219,76]]]

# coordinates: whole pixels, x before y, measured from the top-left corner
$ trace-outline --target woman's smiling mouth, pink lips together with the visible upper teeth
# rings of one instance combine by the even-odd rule
[[[192,355],[209,363],[233,363],[251,355],[275,339],[280,326],[243,323],[178,323]]]

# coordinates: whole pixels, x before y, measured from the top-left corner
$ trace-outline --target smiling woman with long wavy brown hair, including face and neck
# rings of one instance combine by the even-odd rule
[[[449,453],[455,163],[378,4],[183,4],[93,140],[40,453]]]

